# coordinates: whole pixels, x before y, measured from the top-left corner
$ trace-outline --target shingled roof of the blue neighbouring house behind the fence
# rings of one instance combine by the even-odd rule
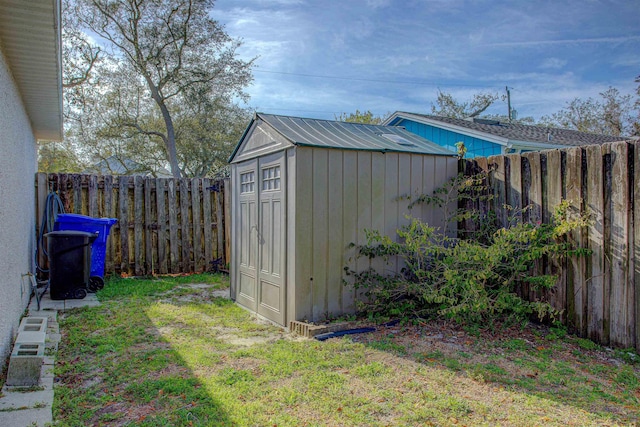
[[[554,148],[563,146],[581,146],[616,142],[628,138],[597,135],[569,129],[546,126],[504,123],[485,119],[453,119],[450,117],[432,116],[398,111],[385,120],[385,125],[402,125],[402,120],[413,120],[419,123],[466,134],[476,138],[495,142],[505,146],[530,146],[538,148]]]

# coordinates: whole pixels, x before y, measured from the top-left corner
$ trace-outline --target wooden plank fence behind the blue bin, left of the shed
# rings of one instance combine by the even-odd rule
[[[105,275],[226,269],[230,230],[225,188],[228,182],[207,178],[38,173],[37,224],[47,194],[54,190],[66,213],[117,218],[107,243]]]

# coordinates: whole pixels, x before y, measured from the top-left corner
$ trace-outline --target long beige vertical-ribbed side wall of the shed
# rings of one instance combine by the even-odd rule
[[[295,316],[290,320],[322,321],[355,311],[351,280],[344,268],[397,272],[382,259],[354,260],[350,246],[366,244],[365,229],[397,239],[404,215],[444,217],[428,206],[408,208],[407,196],[432,193],[457,173],[455,158],[402,153],[353,152],[296,148],[295,244],[287,251],[295,263]],[[401,197],[404,196],[404,197]],[[292,230],[292,226],[289,226]],[[293,276],[289,276],[293,277]],[[360,292],[362,294],[362,292]],[[358,298],[362,298],[359,295]]]

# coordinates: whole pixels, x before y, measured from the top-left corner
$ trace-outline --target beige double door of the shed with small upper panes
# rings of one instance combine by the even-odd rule
[[[238,165],[238,292],[236,301],[285,323],[284,153]]]

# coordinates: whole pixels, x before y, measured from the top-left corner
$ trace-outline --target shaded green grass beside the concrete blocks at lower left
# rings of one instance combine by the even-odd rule
[[[140,297],[146,286],[107,287],[101,306],[61,313],[54,419],[77,426],[232,425],[149,317],[157,302]],[[118,299],[122,294],[127,300]]]

